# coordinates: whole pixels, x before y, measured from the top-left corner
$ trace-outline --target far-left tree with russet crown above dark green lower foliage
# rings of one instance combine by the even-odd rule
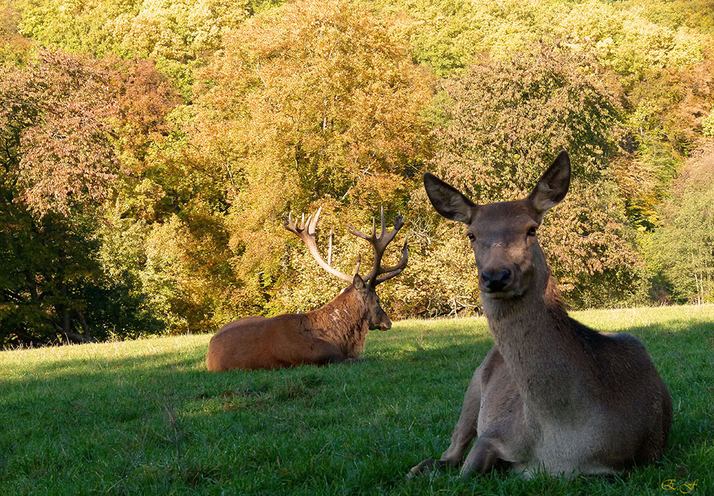
[[[176,101],[147,69],[51,51],[0,69],[4,344],[157,328],[141,291],[108,277],[98,256],[106,203],[136,183],[159,109]]]

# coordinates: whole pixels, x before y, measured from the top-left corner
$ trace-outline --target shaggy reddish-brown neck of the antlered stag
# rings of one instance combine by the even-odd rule
[[[349,286],[331,302],[307,312],[315,337],[337,345],[347,357],[356,358],[365,347],[367,309],[360,294]]]

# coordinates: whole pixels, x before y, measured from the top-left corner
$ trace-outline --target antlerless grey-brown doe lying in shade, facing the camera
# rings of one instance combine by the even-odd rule
[[[532,192],[477,205],[432,174],[424,185],[442,216],[467,225],[483,312],[494,346],[466,391],[451,445],[434,465],[462,477],[495,465],[523,477],[615,475],[658,460],[672,399],[650,355],[631,334],[601,334],[568,317],[537,241],[545,212],[570,187],[561,152]]]

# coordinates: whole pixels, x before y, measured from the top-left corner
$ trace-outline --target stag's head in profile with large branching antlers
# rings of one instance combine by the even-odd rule
[[[354,227],[350,226],[350,232],[357,237],[362,239],[367,239],[375,252],[375,260],[372,266],[372,272],[365,277],[360,276],[360,257],[357,258],[357,267],[354,269],[354,275],[349,276],[343,274],[338,270],[332,268],[329,262],[325,262],[324,259],[319,254],[317,250],[317,243],[315,242],[315,227],[317,226],[317,220],[319,219],[319,214],[322,209],[318,209],[314,216],[310,215],[305,220],[304,215],[302,216],[302,222],[297,225],[297,222],[292,221],[292,217],[288,216],[287,222],[285,222],[285,229],[290,232],[294,232],[297,236],[302,239],[304,244],[312,254],[312,257],[317,261],[322,269],[332,274],[334,277],[339,277],[343,281],[349,282],[351,287],[347,290],[354,292],[354,295],[362,302],[365,308],[365,319],[367,320],[367,326],[370,329],[379,329],[385,331],[392,327],[392,321],[390,317],[387,317],[387,313],[382,309],[382,304],[380,303],[380,297],[377,295],[375,288],[377,284],[387,281],[387,279],[392,279],[402,273],[402,271],[407,267],[407,262],[409,259],[409,251],[407,250],[407,239],[404,240],[404,246],[402,247],[402,256],[396,265],[391,267],[382,266],[382,257],[385,254],[385,249],[387,245],[392,242],[397,236],[397,232],[402,229],[404,225],[404,217],[402,215],[397,215],[395,219],[395,227],[391,231],[387,232],[385,227],[385,210],[382,209],[382,229],[380,233],[377,234],[377,227],[375,225],[374,219],[372,219],[372,234],[364,234],[358,231]],[[330,237],[330,248],[329,252],[332,253],[332,237]],[[329,257],[328,257],[329,260]]]

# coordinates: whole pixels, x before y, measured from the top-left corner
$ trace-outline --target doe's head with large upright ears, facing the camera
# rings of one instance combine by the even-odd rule
[[[467,225],[482,298],[520,297],[532,287],[534,274],[547,272],[537,229],[545,212],[559,204],[570,187],[566,152],[560,152],[527,197],[512,202],[477,205],[428,172],[424,187],[437,212]]]

